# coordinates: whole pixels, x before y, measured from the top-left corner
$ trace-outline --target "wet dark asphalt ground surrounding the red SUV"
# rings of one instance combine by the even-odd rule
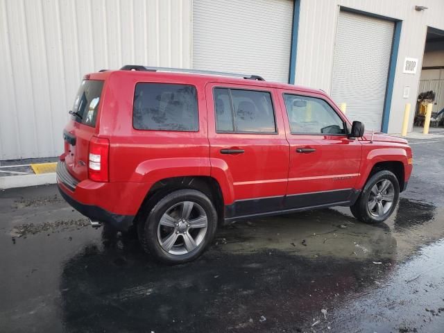
[[[0,332],[444,332],[444,141],[411,140],[393,216],[346,207],[220,229],[162,266],[55,185],[0,191]]]

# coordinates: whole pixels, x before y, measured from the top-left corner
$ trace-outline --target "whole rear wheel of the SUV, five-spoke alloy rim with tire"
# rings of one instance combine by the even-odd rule
[[[146,252],[167,264],[182,264],[203,253],[216,232],[211,200],[200,191],[180,189],[153,205],[139,239]]]

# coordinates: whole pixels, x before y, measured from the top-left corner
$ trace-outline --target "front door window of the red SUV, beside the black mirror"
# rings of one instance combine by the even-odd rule
[[[343,134],[344,123],[323,99],[284,94],[291,133]]]

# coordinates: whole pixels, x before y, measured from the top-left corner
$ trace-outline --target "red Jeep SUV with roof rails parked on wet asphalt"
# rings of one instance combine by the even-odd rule
[[[259,76],[128,65],[86,75],[69,113],[60,193],[92,225],[134,225],[169,264],[254,216],[339,205],[382,222],[412,169],[406,140]]]

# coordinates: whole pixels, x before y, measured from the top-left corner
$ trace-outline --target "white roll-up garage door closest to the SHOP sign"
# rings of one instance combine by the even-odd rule
[[[351,12],[339,13],[332,98],[347,103],[352,120],[381,130],[394,23]]]

